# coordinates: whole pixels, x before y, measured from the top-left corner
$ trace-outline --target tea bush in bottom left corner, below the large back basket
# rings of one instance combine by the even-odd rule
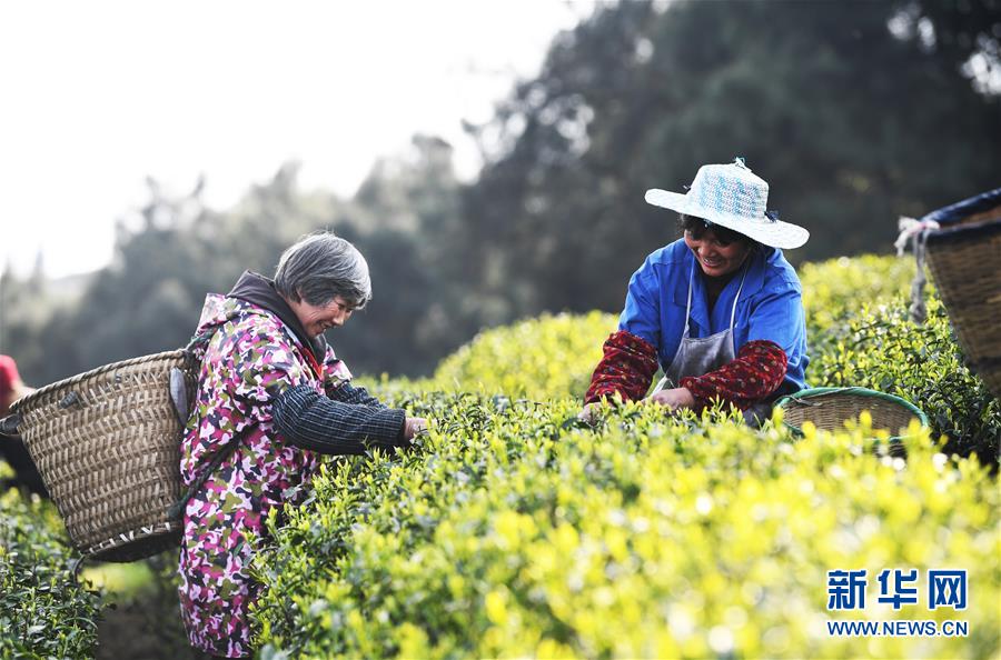
[[[0,658],[93,657],[100,597],[73,580],[63,536],[50,503],[0,493]]]

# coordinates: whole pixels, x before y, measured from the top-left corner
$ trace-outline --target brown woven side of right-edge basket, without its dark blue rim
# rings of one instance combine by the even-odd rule
[[[1001,399],[1001,219],[994,224],[971,240],[929,242],[928,263],[967,358]]]

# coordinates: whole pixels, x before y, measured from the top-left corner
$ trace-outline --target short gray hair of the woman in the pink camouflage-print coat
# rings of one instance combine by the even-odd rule
[[[325,307],[338,296],[354,309],[371,300],[368,263],[355,246],[319,231],[304,236],[281,253],[275,288],[284,297]]]

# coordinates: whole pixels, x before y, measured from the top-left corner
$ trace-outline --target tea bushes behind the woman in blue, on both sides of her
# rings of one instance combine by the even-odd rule
[[[963,364],[945,311],[928,291],[924,324],[908,319],[910,258],[866,254],[806,263],[800,269],[813,387],[868,387],[924,410],[947,451],[977,451],[998,462],[1001,408]],[[442,362],[433,380],[393,383],[392,396],[414,391],[503,392],[533,400],[579,399],[616,327],[612,314],[543,316],[482,332]]]

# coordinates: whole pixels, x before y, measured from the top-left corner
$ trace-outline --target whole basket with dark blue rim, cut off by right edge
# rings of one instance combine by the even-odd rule
[[[970,368],[1001,399],[1001,189],[973,201],[929,233],[928,264]]]

